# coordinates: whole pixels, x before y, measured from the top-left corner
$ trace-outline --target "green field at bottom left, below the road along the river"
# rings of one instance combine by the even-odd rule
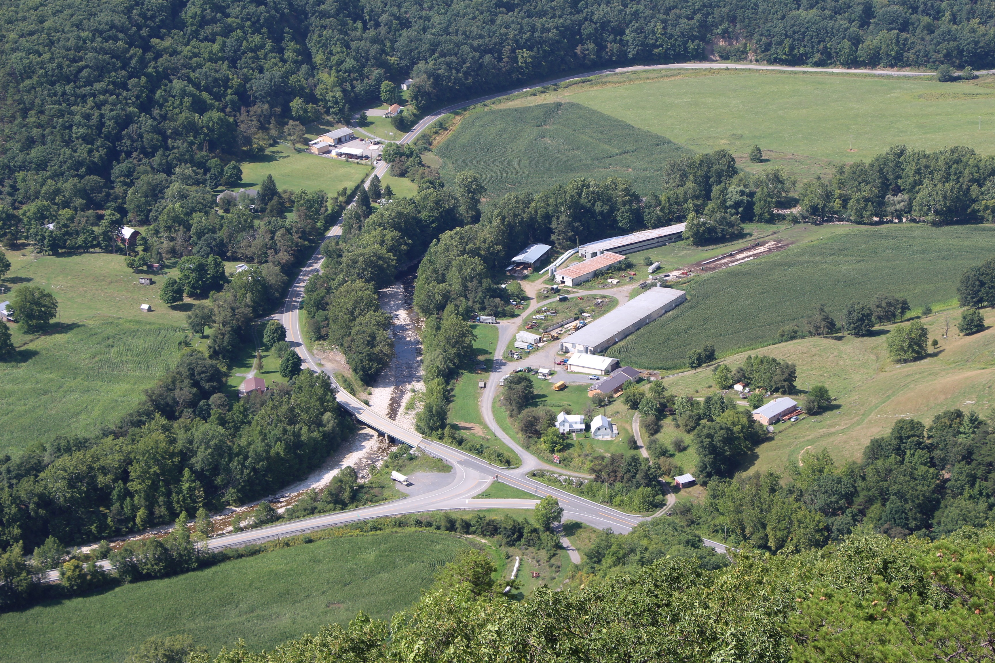
[[[146,638],[184,633],[212,654],[239,638],[272,649],[359,610],[389,619],[467,547],[436,532],[338,537],[50,601],[0,614],[0,660],[121,661]]]

